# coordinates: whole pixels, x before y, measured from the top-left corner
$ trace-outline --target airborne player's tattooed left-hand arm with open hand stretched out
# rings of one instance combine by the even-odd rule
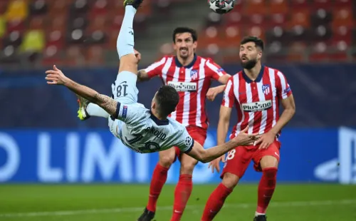
[[[117,109],[117,101],[112,98],[98,93],[92,88],[80,85],[70,78],[66,77],[61,70],[59,70],[55,65],[53,70],[46,71],[46,80],[48,84],[53,85],[63,85],[78,94],[79,96],[88,99],[91,103],[96,103],[98,106],[103,108],[110,115],[115,115]]]

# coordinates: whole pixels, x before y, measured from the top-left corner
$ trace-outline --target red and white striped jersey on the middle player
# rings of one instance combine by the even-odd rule
[[[194,56],[188,66],[182,66],[176,56],[164,56],[145,69],[150,78],[159,76],[164,85],[174,87],[179,93],[179,103],[170,118],[184,126],[208,128],[205,101],[211,79],[219,80],[225,71],[209,58]]]

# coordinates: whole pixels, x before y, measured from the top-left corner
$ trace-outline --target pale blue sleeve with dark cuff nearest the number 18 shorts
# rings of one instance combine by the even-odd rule
[[[118,119],[129,125],[141,120],[141,116],[144,116],[146,111],[144,106],[137,105],[137,103],[127,105],[117,102],[116,113],[111,116],[111,119]]]

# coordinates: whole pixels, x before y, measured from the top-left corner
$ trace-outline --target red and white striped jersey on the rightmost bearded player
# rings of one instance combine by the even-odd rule
[[[222,106],[236,106],[237,124],[231,132],[234,138],[248,125],[248,133],[267,133],[279,118],[279,101],[292,94],[286,77],[273,68],[262,66],[255,81],[244,71],[231,76],[226,83]]]

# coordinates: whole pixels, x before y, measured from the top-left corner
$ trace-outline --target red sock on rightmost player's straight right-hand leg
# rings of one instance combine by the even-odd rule
[[[269,202],[271,201],[274,189],[276,188],[277,168],[266,168],[258,185],[258,213],[266,213]]]

